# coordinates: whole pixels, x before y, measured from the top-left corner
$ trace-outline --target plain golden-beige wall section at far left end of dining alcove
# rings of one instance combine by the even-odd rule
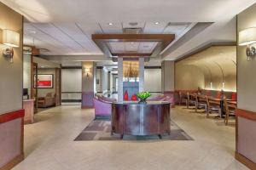
[[[175,89],[195,90],[205,87],[203,71],[194,65],[175,65]]]

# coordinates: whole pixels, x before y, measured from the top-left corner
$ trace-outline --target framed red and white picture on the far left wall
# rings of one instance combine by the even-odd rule
[[[52,74],[38,74],[38,88],[53,88]],[[34,88],[36,88],[36,75],[34,75]]]

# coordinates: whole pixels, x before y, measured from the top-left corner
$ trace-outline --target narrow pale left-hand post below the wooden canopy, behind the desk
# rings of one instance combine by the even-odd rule
[[[118,101],[122,102],[124,99],[123,92],[123,58],[118,58],[118,77],[119,77],[119,91],[118,91]]]

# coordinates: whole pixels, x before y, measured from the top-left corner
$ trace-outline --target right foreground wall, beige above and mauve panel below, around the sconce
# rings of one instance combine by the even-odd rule
[[[237,16],[237,33],[256,27],[256,4]],[[256,47],[256,44],[253,44]],[[240,156],[254,162],[256,167],[256,59],[247,61],[246,47],[237,47],[237,107],[245,116],[237,116],[237,148]],[[249,111],[249,113],[248,113]],[[247,117],[246,117],[247,116]]]

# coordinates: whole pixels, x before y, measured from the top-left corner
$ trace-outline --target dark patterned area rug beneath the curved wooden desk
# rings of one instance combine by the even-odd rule
[[[162,139],[155,136],[131,136],[125,135],[124,139],[120,139],[119,134],[111,135],[111,122],[109,120],[94,120],[84,128],[75,141],[84,140],[193,140],[187,133],[177,126],[175,122],[171,122],[171,134],[163,135]]]

